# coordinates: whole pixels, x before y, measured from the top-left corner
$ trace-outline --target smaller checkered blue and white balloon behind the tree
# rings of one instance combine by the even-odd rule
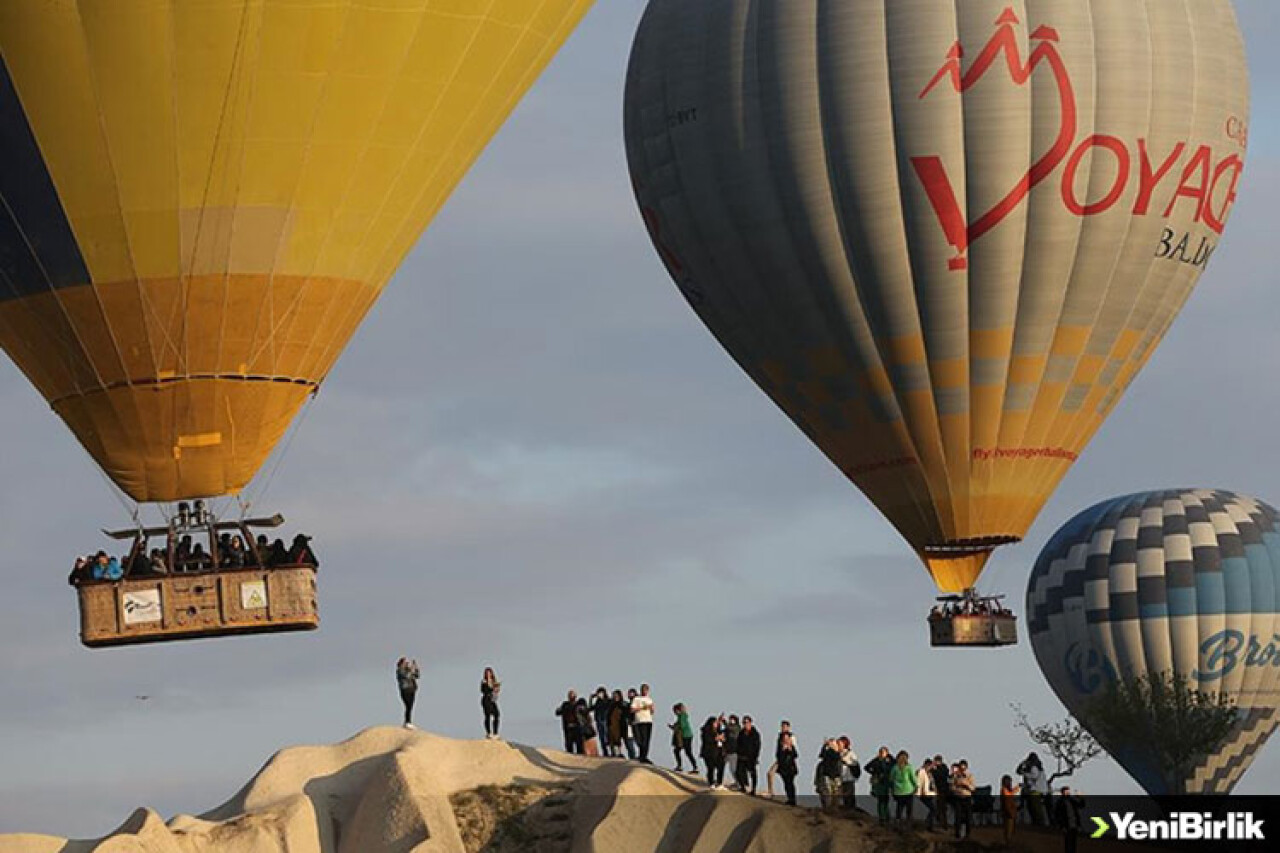
[[[1108,681],[1187,679],[1236,722],[1184,779],[1149,743],[1100,743],[1149,794],[1226,794],[1280,722],[1280,515],[1254,498],[1174,489],[1112,498],[1053,534],[1027,587],[1044,679],[1089,729]],[[1094,731],[1096,735],[1102,733]]]

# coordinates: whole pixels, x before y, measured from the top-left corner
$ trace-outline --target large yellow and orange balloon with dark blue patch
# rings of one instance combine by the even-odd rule
[[[0,346],[133,501],[241,492],[590,5],[0,4]]]

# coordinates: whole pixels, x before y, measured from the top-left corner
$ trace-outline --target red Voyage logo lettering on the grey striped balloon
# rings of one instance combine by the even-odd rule
[[[964,95],[982,81],[988,72],[996,68],[1007,68],[1010,79],[1015,86],[1027,86],[1032,74],[1039,67],[1044,67],[1041,73],[1052,74],[1059,100],[1059,132],[1053,143],[1027,169],[1027,173],[1018,179],[1012,188],[996,201],[991,209],[980,211],[972,220],[961,207],[956,196],[955,186],[947,172],[942,158],[937,155],[913,156],[911,167],[929,197],[933,213],[937,215],[946,240],[951,243],[956,254],[947,261],[952,270],[969,268],[966,252],[969,246],[979,237],[992,231],[1002,223],[1009,214],[1018,209],[1030,191],[1051,177],[1060,165],[1066,164],[1062,170],[1061,196],[1062,204],[1078,216],[1091,216],[1114,207],[1129,187],[1130,177],[1134,173],[1134,160],[1138,160],[1138,192],[1133,207],[1133,215],[1142,216],[1148,213],[1151,199],[1156,188],[1161,184],[1172,168],[1183,160],[1183,155],[1190,149],[1188,142],[1179,142],[1165,156],[1158,165],[1153,164],[1147,150],[1147,140],[1137,141],[1138,156],[1130,152],[1132,146],[1125,141],[1106,133],[1092,133],[1076,145],[1079,132],[1079,108],[1075,96],[1075,87],[1071,83],[1070,69],[1062,53],[1059,50],[1059,32],[1048,26],[1039,26],[1028,37],[1033,45],[1029,55],[1024,59],[1019,45],[1018,27],[1021,24],[1012,8],[1006,8],[996,19],[996,32],[983,46],[978,58],[963,68],[964,46],[957,41],[946,54],[946,60],[928,85],[920,91],[920,100],[929,97],[942,83],[950,83],[951,91]],[[1004,63],[1001,63],[1001,59]],[[1231,120],[1228,119],[1228,127]],[[1243,133],[1228,136],[1243,147]],[[1107,192],[1094,201],[1082,200],[1076,191],[1076,175],[1084,158],[1094,152],[1098,156],[1110,155],[1115,160],[1115,178]],[[1169,218],[1174,207],[1183,199],[1196,201],[1194,222],[1203,223],[1215,233],[1222,233],[1226,215],[1235,202],[1236,184],[1244,169],[1244,160],[1238,154],[1217,159],[1208,145],[1199,145],[1188,159],[1181,172],[1181,181],[1174,192],[1169,206],[1162,216]],[[1220,192],[1220,188],[1224,188]],[[1176,234],[1166,229],[1164,242],[1170,243]],[[1187,238],[1181,241],[1185,247]],[[1207,254],[1212,246],[1207,248]],[[1176,257],[1170,251],[1158,254],[1161,257]]]

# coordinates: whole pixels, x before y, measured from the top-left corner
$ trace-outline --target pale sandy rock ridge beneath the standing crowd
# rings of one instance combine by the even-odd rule
[[[1112,847],[1082,840],[1079,849]],[[284,749],[239,793],[200,816],[165,822],[140,808],[95,840],[0,835],[0,853],[952,849],[1006,848],[997,827],[979,827],[957,845],[941,833],[881,829],[860,812],[828,817],[712,792],[700,777],[659,767],[389,727],[334,745]],[[1019,827],[1012,849],[1056,852],[1062,841]]]

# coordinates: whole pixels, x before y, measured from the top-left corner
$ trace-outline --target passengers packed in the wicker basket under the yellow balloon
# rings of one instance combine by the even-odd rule
[[[170,558],[170,553],[173,555]],[[156,578],[173,573],[212,571],[214,569],[275,569],[279,566],[319,567],[311,537],[300,533],[293,543],[283,539],[269,542],[265,535],[246,544],[238,534],[223,533],[216,539],[216,547],[193,542],[192,534],[175,537],[173,547],[151,548],[140,539],[133,549],[122,560],[99,551],[95,555],[77,557],[68,576],[68,583],[79,585],[90,580],[123,580],[125,578]]]

